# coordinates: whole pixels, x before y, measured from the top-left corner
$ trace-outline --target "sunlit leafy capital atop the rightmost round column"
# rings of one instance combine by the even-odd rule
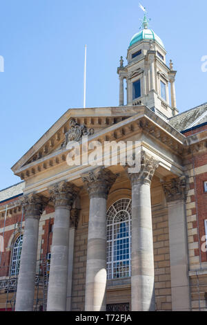
[[[139,173],[128,172],[128,177],[130,178],[132,185],[135,185],[137,183],[151,184],[155,170],[159,167],[159,161],[154,157],[146,154],[145,151],[141,151],[140,163],[141,166]]]

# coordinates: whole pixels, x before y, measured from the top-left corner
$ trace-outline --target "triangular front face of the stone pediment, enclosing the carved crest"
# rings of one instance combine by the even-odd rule
[[[138,108],[128,110],[126,107],[69,109],[12,167],[12,171],[16,174],[22,167],[34,165],[46,156],[64,151],[68,140],[79,141],[82,136],[92,136],[101,129],[135,115],[138,111]]]

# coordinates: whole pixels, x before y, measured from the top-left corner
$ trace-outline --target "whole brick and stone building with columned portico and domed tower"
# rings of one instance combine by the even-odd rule
[[[207,310],[207,104],[179,114],[176,71],[142,27],[117,68],[119,106],[69,109],[12,167],[0,310]]]

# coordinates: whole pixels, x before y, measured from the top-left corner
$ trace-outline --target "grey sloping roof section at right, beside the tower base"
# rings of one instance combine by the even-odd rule
[[[173,116],[169,119],[169,124],[177,131],[185,131],[197,125],[207,122],[207,102],[193,109]]]

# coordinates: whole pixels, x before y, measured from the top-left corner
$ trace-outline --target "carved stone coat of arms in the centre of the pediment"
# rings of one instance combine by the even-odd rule
[[[95,131],[94,129],[87,129],[85,125],[79,125],[74,118],[69,122],[70,129],[65,134],[65,140],[62,143],[61,147],[64,148],[69,141],[79,141],[82,136],[91,136]]]

